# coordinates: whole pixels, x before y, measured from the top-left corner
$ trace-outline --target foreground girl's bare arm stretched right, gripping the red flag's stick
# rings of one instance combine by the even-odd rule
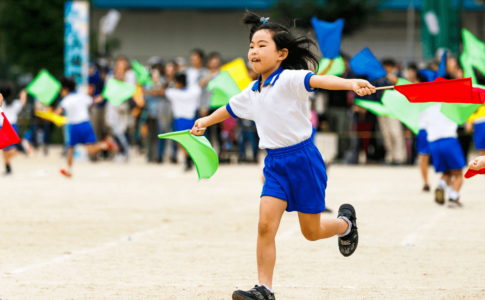
[[[350,90],[359,96],[370,95],[376,92],[375,86],[367,80],[343,79],[333,75],[314,75],[310,78],[311,88],[325,90]]]

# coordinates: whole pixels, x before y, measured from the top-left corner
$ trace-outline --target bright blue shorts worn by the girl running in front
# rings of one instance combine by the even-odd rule
[[[267,149],[264,160],[263,196],[288,203],[286,211],[318,214],[325,211],[327,170],[322,155],[311,139],[299,144]]]

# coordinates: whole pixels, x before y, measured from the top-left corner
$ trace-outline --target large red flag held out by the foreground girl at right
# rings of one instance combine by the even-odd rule
[[[479,93],[473,92],[471,78],[446,80],[438,77],[433,82],[396,85],[394,89],[411,103],[482,104]]]

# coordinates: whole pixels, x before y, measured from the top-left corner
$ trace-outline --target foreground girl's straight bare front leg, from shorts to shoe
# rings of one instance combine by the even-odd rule
[[[258,223],[258,279],[260,284],[272,289],[276,262],[275,236],[287,202],[275,197],[261,197]]]

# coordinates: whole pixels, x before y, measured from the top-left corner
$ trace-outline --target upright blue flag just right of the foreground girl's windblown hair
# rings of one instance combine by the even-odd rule
[[[321,21],[317,17],[312,18],[313,29],[324,58],[334,59],[340,56],[340,41],[342,40],[344,23],[344,19],[329,23]]]

